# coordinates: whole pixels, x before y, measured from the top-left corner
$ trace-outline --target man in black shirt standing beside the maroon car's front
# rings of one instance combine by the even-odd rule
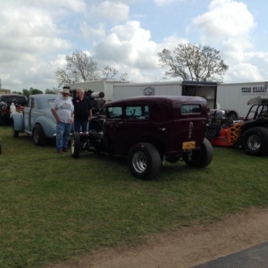
[[[76,97],[72,99],[74,106],[74,131],[88,131],[88,121],[92,119],[92,107],[87,96],[84,95],[83,88],[76,89]]]

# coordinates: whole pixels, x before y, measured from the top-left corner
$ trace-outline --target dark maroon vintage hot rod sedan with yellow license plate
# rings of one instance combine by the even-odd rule
[[[89,132],[74,132],[71,156],[97,151],[128,157],[130,171],[142,180],[158,175],[163,161],[204,168],[213,160],[205,138],[206,100],[198,96],[140,96],[105,104]]]

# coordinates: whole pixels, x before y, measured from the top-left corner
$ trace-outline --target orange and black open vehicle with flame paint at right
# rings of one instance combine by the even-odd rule
[[[256,97],[249,102],[252,105],[243,121],[229,121],[221,110],[212,114],[205,134],[212,145],[241,146],[247,155],[268,155],[268,99]]]

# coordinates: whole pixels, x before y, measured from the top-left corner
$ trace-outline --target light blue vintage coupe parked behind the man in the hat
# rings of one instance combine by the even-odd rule
[[[47,138],[55,138],[56,121],[51,113],[51,105],[60,95],[38,94],[29,96],[23,113],[13,112],[13,137],[18,138],[20,132],[32,136],[37,146],[46,145]]]

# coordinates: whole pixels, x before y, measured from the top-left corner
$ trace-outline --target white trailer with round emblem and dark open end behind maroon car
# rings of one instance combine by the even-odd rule
[[[217,83],[203,81],[163,81],[113,85],[113,100],[130,96],[202,96],[209,109],[216,108]]]

